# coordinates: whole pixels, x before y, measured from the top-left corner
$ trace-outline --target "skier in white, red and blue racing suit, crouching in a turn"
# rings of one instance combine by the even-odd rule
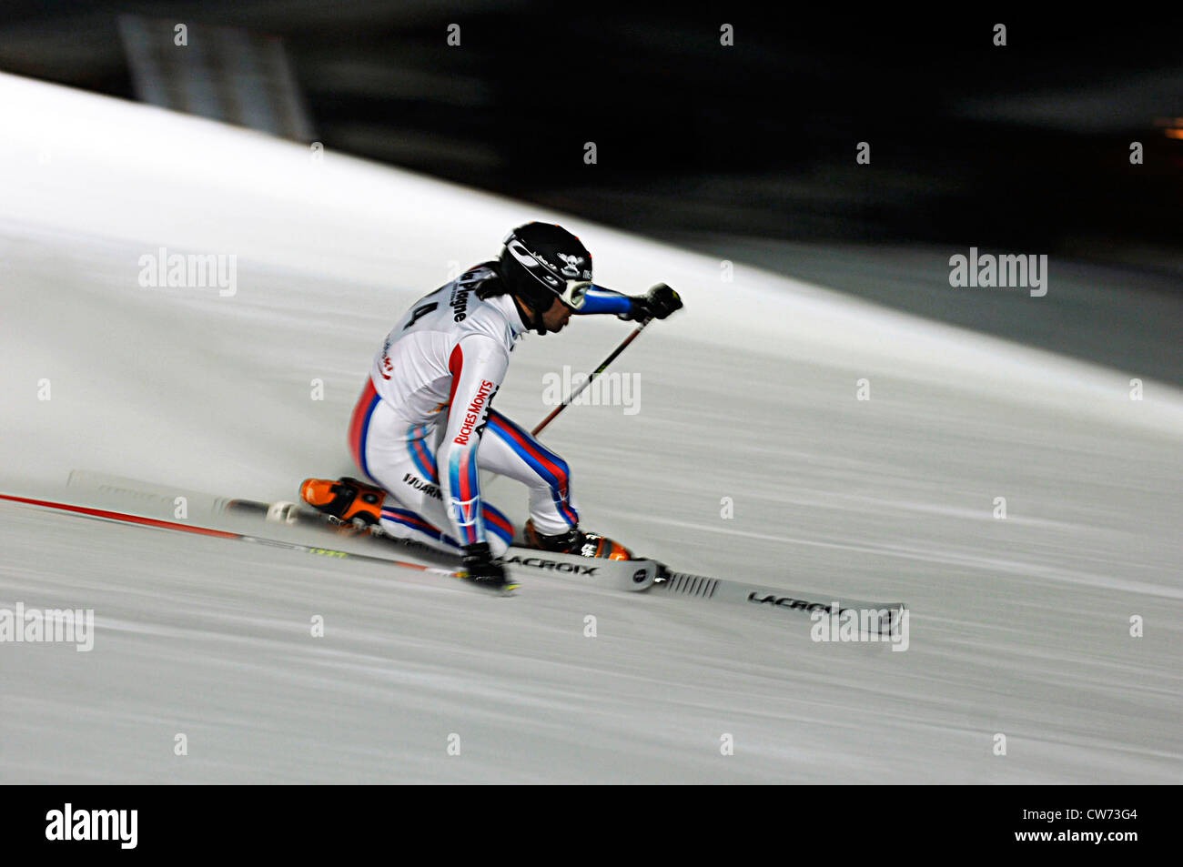
[[[491,408],[518,338],[526,330],[557,334],[571,313],[664,319],[681,306],[664,283],[644,296],[595,286],[592,254],[560,226],[529,222],[504,245],[498,259],[420,298],[375,356],[349,447],[380,487],[348,477],[300,486],[306,503],[336,518],[461,554],[468,577],[493,587],[505,583],[494,558],[515,528],[481,498],[478,470],[529,489],[526,546],[632,558],[619,543],[580,530],[567,461]]]

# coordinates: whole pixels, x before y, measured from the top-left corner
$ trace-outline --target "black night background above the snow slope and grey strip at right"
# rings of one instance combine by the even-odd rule
[[[316,136],[659,237],[1176,267],[1178,18],[633,2],[2,4],[0,69],[131,97],[116,15],[284,39]],[[448,24],[461,45],[446,44]],[[719,45],[719,26],[735,46]],[[1008,45],[991,44],[1003,22]],[[583,162],[584,142],[599,162]],[[871,164],[854,162],[871,144]],[[1131,166],[1131,141],[1145,164]]]

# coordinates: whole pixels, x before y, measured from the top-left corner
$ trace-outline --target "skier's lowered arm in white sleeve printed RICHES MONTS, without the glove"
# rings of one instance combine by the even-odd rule
[[[505,377],[509,354],[492,337],[472,334],[457,343],[448,360],[452,397],[447,429],[435,455],[440,491],[448,505],[452,531],[461,545],[485,542],[477,474],[477,446],[489,405]]]

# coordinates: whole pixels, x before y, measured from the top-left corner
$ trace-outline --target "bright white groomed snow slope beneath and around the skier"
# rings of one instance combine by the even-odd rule
[[[759,608],[563,581],[489,599],[0,504],[0,609],[97,625],[90,653],[0,643],[0,781],[1183,779],[1178,390],[1131,401],[1138,371],[750,267],[726,283],[717,259],[142,105],[8,76],[0,104],[0,491],[83,467],[290,499],[351,471],[390,323],[554,218],[603,284],[686,300],[614,368],[640,412],[573,407],[547,434],[587,526],[689,571],[912,608],[893,653]],[[237,255],[235,293],[141,287],[160,247]],[[528,338],[499,408],[531,423],[545,374],[627,329]],[[524,517],[512,484],[491,499]]]

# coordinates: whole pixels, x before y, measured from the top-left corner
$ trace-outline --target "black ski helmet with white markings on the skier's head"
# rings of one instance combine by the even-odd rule
[[[578,310],[592,285],[592,253],[562,226],[528,222],[505,235],[502,279],[535,312],[555,300]]]

